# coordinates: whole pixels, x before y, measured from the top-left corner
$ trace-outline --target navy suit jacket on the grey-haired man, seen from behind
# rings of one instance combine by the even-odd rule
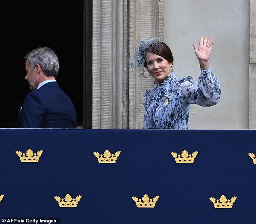
[[[75,128],[76,110],[57,82],[48,82],[25,97],[18,128]]]

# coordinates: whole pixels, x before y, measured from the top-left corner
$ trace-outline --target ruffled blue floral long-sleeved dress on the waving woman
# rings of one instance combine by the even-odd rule
[[[175,77],[176,72],[166,80],[144,93],[145,115],[143,128],[188,129],[191,103],[210,107],[220,99],[218,79],[208,70],[201,69],[198,84],[191,76]]]

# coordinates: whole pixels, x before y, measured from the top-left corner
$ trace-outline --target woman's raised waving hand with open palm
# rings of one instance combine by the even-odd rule
[[[204,70],[209,68],[209,58],[212,51],[212,48],[214,46],[214,41],[211,43],[211,37],[207,38],[207,36],[204,38],[204,36],[201,36],[199,41],[199,47],[195,44],[192,44],[195,49],[195,55],[197,59],[199,60],[200,67]]]

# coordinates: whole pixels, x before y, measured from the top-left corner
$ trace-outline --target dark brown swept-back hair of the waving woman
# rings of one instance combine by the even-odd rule
[[[165,44],[164,42],[161,41],[156,41],[153,42],[152,44],[149,44],[147,49],[145,50],[145,62],[144,62],[144,67],[147,67],[147,53],[151,52],[153,54],[157,54],[164,59],[166,59],[169,63],[173,63],[173,56],[172,56],[172,51],[170,48]]]

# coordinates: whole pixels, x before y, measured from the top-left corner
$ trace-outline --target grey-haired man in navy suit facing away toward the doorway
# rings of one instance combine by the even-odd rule
[[[30,89],[18,116],[18,128],[75,128],[76,110],[59,88],[59,60],[47,47],[32,50],[25,57]]]

